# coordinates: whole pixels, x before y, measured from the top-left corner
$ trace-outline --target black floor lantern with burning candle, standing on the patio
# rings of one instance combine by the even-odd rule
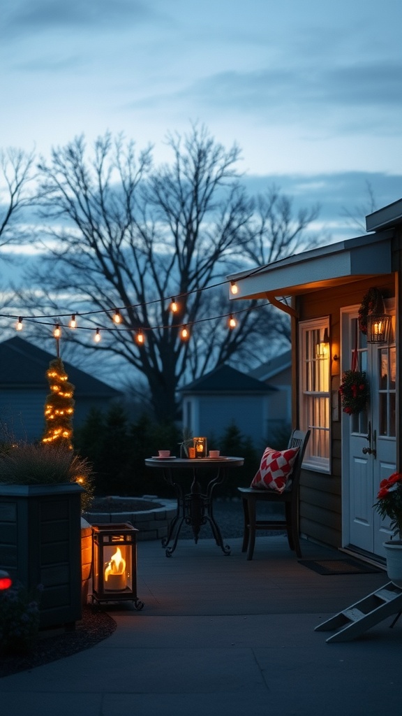
[[[92,525],[94,566],[92,602],[134,601],[137,598],[137,532],[129,522]]]

